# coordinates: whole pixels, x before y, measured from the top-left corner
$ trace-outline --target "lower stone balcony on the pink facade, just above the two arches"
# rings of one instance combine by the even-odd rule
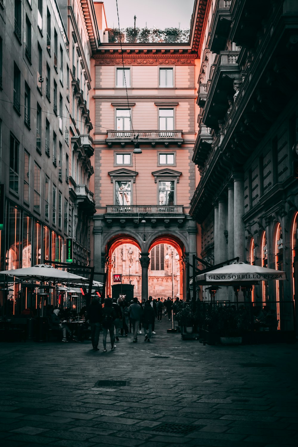
[[[109,227],[120,225],[124,228],[127,223],[132,223],[135,228],[144,219],[155,228],[157,223],[168,228],[170,225],[182,227],[186,215],[183,213],[183,205],[107,205],[105,222]]]

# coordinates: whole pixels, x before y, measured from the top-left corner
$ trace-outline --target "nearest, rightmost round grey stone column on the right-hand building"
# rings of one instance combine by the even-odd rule
[[[243,174],[234,174],[234,255],[239,261],[245,261],[245,233],[244,233],[244,189]]]

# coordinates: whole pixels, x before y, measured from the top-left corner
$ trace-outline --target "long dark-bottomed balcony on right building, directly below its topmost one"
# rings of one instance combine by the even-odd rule
[[[225,118],[229,100],[233,103],[234,82],[240,78],[238,55],[239,51],[221,51],[216,60],[202,117],[211,129],[218,129],[218,121]]]

